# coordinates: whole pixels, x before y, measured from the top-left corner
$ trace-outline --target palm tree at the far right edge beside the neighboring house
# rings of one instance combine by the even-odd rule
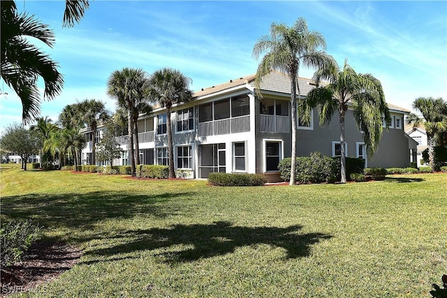
[[[447,131],[447,103],[442,98],[419,97],[413,101],[413,109],[422,114],[422,118],[416,114],[409,114],[406,119],[407,124],[423,124],[427,133],[427,147],[429,165],[432,171],[435,170],[434,144],[435,135]]]

